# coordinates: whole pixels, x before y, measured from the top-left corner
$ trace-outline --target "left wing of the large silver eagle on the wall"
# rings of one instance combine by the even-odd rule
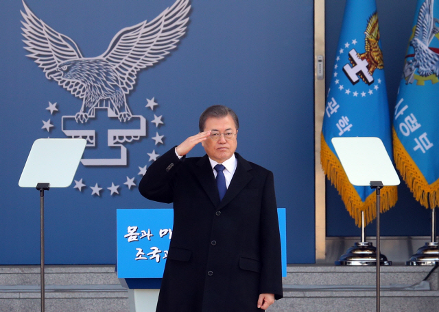
[[[74,96],[84,98],[85,86],[78,81],[68,81],[62,78],[62,73],[58,70],[58,65],[68,60],[78,60],[82,58],[80,49],[71,38],[58,33],[46,23],[36,17],[27,8],[23,1],[25,12],[21,12],[24,18],[23,37],[26,47],[31,54],[27,57],[34,59],[38,67],[43,68],[47,79],[54,79],[58,84],[67,89]]]

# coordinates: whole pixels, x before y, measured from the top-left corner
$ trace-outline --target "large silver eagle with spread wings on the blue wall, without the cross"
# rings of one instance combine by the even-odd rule
[[[76,122],[95,116],[95,108],[107,107],[121,122],[132,114],[126,96],[134,88],[137,73],[154,66],[176,48],[189,21],[189,0],[176,0],[154,20],[121,29],[97,57],[83,57],[71,38],[49,27],[29,10],[25,12],[23,36],[32,58],[47,79],[54,79],[74,96],[82,99]]]

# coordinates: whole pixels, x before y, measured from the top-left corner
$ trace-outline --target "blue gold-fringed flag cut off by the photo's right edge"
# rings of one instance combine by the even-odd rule
[[[393,116],[396,168],[431,209],[439,203],[438,18],[439,1],[418,1]]]

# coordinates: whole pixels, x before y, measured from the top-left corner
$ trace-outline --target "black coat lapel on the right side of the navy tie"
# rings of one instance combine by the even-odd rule
[[[242,158],[241,155],[239,155],[238,153],[235,153],[235,155],[238,159],[235,174],[233,174],[232,181],[230,181],[230,185],[228,185],[228,189],[226,194],[224,195],[224,198],[222,198],[221,203],[217,205],[217,210],[222,209],[222,207],[230,203],[230,201],[233,200],[233,198],[235,198],[237,194],[239,194],[239,192],[241,192],[241,190],[253,178],[252,174],[250,174],[249,172],[250,170],[252,170],[252,166],[250,166],[250,164],[248,164],[248,161]],[[215,189],[217,189],[216,185]],[[218,190],[216,190],[216,192],[219,199]]]

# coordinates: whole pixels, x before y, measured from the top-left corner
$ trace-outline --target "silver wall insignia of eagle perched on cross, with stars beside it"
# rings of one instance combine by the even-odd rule
[[[61,127],[67,137],[87,140],[88,155],[81,160],[82,164],[127,166],[128,151],[123,144],[147,136],[145,117],[132,115],[127,96],[136,84],[139,70],[154,66],[176,48],[189,21],[189,0],[176,0],[152,21],[121,29],[108,49],[97,57],[83,57],[71,38],[40,20],[24,1],[23,6],[23,42],[30,53],[27,57],[43,69],[47,79],[54,79],[75,97],[82,99],[78,113],[62,116]],[[148,100],[148,105],[153,103],[157,105],[154,99]],[[154,109],[154,106],[150,108]],[[52,114],[56,108],[50,106],[49,109]],[[153,121],[156,127],[158,123],[163,124],[157,120],[160,118],[156,117]],[[50,131],[51,127],[54,126],[49,120],[43,129]],[[101,148],[97,148],[96,129],[107,131],[108,144],[104,152],[102,144]],[[163,144],[162,138],[163,135],[157,133],[154,138],[156,144]],[[120,150],[120,156],[112,153],[117,150]]]

